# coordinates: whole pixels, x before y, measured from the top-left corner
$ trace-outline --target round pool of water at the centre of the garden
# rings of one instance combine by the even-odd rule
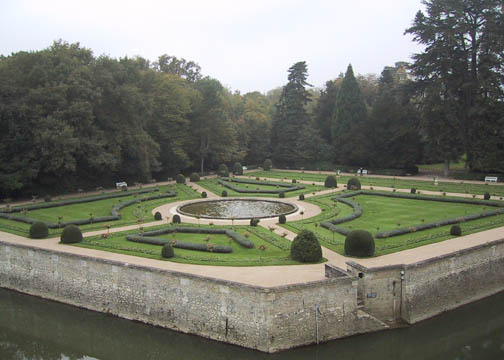
[[[229,199],[192,202],[179,206],[177,211],[194,217],[238,220],[287,215],[297,211],[297,206],[273,200]]]

